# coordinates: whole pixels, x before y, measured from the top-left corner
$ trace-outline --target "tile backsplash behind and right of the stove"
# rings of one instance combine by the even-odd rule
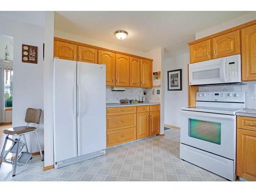
[[[246,108],[256,109],[256,81],[247,82],[243,85],[236,86],[209,86],[199,87],[199,92],[214,92],[214,91],[243,91],[245,92]]]

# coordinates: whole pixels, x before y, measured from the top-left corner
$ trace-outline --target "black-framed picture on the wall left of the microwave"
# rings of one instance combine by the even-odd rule
[[[168,91],[181,91],[182,79],[181,69],[167,71],[168,76]]]

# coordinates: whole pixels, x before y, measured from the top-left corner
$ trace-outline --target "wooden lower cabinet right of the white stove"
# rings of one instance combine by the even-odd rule
[[[236,174],[256,181],[256,118],[238,116]]]

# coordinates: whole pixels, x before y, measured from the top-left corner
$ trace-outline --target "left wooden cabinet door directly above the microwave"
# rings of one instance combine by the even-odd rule
[[[191,45],[190,63],[210,60],[210,39]]]

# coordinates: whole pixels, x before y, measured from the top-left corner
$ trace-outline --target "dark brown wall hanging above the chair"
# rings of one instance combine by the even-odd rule
[[[37,64],[37,47],[22,44],[22,62]]]

